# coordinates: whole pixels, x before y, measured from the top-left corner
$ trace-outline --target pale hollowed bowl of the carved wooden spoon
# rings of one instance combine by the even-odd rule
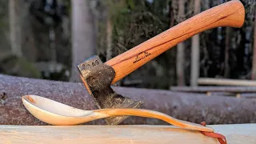
[[[52,125],[76,125],[95,119],[87,117],[94,115],[92,110],[80,110],[37,95],[22,96],[22,102],[35,118]]]

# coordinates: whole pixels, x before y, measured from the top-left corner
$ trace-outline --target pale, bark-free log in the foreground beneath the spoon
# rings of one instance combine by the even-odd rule
[[[212,125],[230,144],[256,142],[256,124]],[[0,126],[0,143],[190,143],[219,144],[198,131],[174,126]]]

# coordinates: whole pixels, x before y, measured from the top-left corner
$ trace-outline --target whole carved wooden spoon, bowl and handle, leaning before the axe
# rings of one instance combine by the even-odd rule
[[[42,122],[52,125],[77,125],[84,122],[90,122],[100,118],[111,116],[130,115],[146,118],[158,118],[174,126],[182,127],[189,130],[199,130],[214,132],[214,129],[202,126],[196,123],[186,122],[169,115],[162,114],[154,110],[144,109],[100,109],[100,110],[80,110],[72,106],[67,106],[60,102],[43,98],[37,95],[24,95],[22,102],[27,110],[34,117]]]

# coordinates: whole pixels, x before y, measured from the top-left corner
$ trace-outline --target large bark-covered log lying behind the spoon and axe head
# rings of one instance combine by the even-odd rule
[[[0,125],[46,125],[34,118],[22,105],[22,95],[35,94],[82,110],[94,110],[93,99],[82,83],[57,82],[20,78],[0,74],[0,91],[5,93],[0,103]],[[144,102],[143,109],[156,110],[188,122],[208,124],[256,122],[256,101],[246,98],[183,94],[169,90],[148,90],[113,86],[126,97]],[[103,124],[103,119],[85,124]],[[129,117],[121,124],[169,125],[154,118]]]

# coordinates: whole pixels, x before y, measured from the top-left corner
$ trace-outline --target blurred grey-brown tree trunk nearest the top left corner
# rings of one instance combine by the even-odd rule
[[[9,1],[10,48],[14,55],[22,57],[22,30],[20,1]]]

